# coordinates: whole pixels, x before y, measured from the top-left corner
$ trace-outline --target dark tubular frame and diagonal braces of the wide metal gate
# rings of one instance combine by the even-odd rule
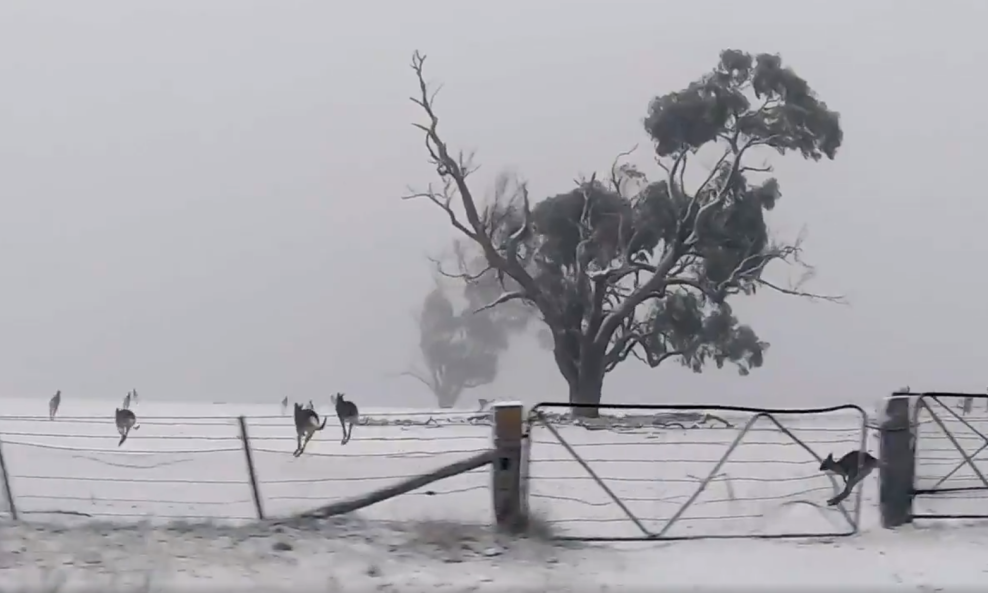
[[[988,396],[986,396],[988,397]],[[640,517],[638,517],[627,504],[614,493],[613,490],[608,487],[604,479],[601,478],[597,472],[594,471],[592,467],[587,463],[583,457],[573,448],[573,446],[560,434],[559,430],[553,426],[550,422],[546,421],[543,410],[546,408],[566,408],[567,410],[577,409],[577,408],[596,408],[596,409],[608,409],[608,410],[653,410],[653,411],[666,411],[673,414],[679,412],[741,412],[753,414],[751,418],[740,428],[740,432],[734,438],[734,440],[728,445],[727,449],[724,451],[720,459],[714,464],[710,472],[700,481],[696,490],[689,496],[689,498],[684,502],[679,509],[673,513],[672,517],[665,521],[665,524],[659,531],[649,530],[645,526],[644,522]],[[751,431],[752,428],[758,423],[759,420],[765,419],[768,422],[775,425],[779,431],[796,445],[802,447],[807,453],[810,454],[818,462],[822,463],[823,458],[821,458],[816,451],[814,451],[809,445],[804,443],[799,437],[792,433],[788,428],[786,428],[779,420],[775,417],[776,415],[813,415],[813,414],[827,414],[831,412],[839,412],[841,410],[849,410],[857,412],[861,415],[861,439],[860,439],[860,450],[867,450],[868,445],[868,414],[860,406],[853,404],[833,406],[829,408],[796,408],[796,409],[782,409],[782,408],[748,408],[744,406],[718,406],[718,405],[649,405],[649,404],[575,404],[575,403],[562,403],[562,402],[542,402],[536,404],[531,412],[529,412],[528,428],[526,434],[526,441],[531,444],[531,427],[536,420],[541,421],[541,424],[552,434],[552,436],[559,441],[563,449],[573,457],[584,471],[593,479],[601,490],[611,499],[611,501],[621,510],[621,512],[627,517],[628,521],[633,523],[635,527],[641,531],[639,536],[589,536],[589,537],[578,537],[578,536],[556,536],[555,539],[560,541],[582,541],[582,542],[613,542],[613,541],[682,541],[682,540],[696,540],[696,539],[798,539],[798,538],[816,538],[816,537],[846,537],[851,535],[856,535],[858,533],[858,526],[861,520],[861,497],[862,497],[862,487],[858,487],[857,492],[850,498],[854,500],[854,510],[853,512],[848,512],[844,507],[844,503],[839,503],[837,505],[837,510],[847,521],[848,528],[846,531],[835,531],[832,533],[779,533],[779,534],[705,534],[705,535],[682,535],[682,536],[671,536],[667,535],[669,530],[679,521],[687,510],[693,505],[694,502],[700,497],[700,495],[706,490],[707,486],[716,479],[716,477],[721,473],[720,470],[727,463],[731,454],[735,449],[738,448],[744,441],[745,435]],[[716,417],[714,417],[716,419]],[[672,422],[673,425],[677,424]],[[661,428],[661,426],[659,426]],[[530,456],[529,456],[530,458]],[[657,463],[661,463],[657,461]],[[826,477],[830,480],[833,485],[834,493],[839,493],[843,490],[843,487],[838,485],[837,480],[830,475],[826,474]]]

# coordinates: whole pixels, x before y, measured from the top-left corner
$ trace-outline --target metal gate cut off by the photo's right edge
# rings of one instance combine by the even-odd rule
[[[912,426],[912,518],[988,518],[988,395],[919,394]]]

